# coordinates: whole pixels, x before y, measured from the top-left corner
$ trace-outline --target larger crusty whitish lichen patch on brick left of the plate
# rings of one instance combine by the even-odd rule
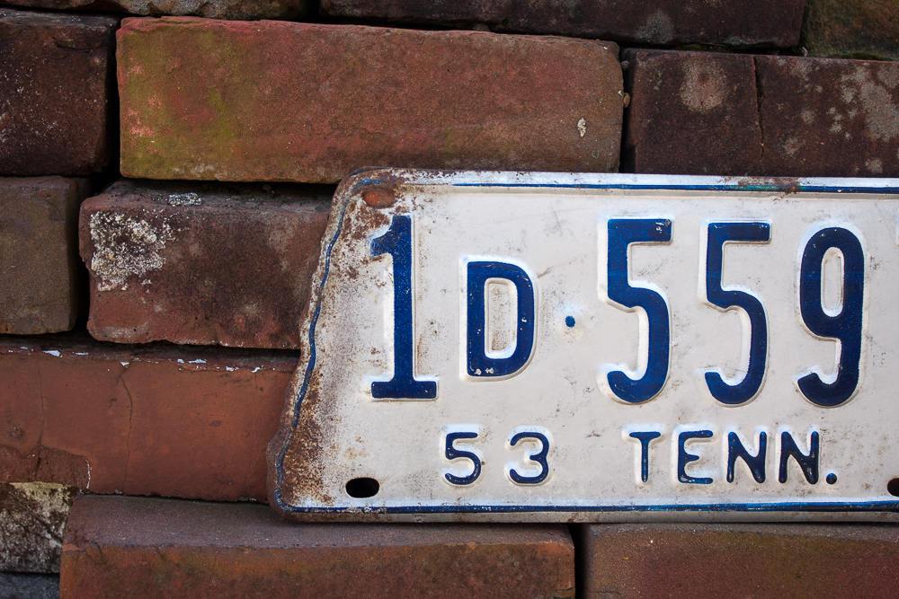
[[[119,212],[97,212],[90,220],[93,256],[91,271],[97,289],[128,289],[129,278],[144,277],[165,264],[160,251],[173,239],[167,222],[154,225],[143,218]]]

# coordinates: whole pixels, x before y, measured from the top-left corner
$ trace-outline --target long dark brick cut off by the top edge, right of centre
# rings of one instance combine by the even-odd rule
[[[806,0],[322,0],[325,13],[641,44],[792,47]]]

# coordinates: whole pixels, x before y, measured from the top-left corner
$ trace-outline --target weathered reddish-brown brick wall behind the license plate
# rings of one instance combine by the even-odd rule
[[[894,0],[0,4],[0,596],[892,591],[886,525],[248,502],[347,173],[899,177]]]

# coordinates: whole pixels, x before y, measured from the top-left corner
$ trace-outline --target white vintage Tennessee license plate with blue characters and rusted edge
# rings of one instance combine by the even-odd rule
[[[270,446],[297,517],[886,518],[899,182],[374,171]]]

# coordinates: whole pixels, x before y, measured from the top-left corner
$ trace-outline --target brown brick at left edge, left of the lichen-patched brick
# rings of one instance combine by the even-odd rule
[[[0,333],[75,326],[81,291],[76,226],[86,192],[84,180],[0,178]]]

